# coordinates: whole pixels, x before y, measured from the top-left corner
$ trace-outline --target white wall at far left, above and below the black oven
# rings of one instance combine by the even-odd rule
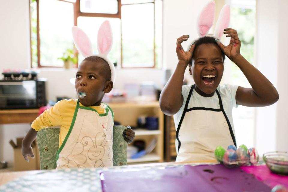
[[[0,0],[0,71],[30,66],[29,1]],[[29,124],[0,125],[0,161],[13,165],[10,139],[23,137]]]

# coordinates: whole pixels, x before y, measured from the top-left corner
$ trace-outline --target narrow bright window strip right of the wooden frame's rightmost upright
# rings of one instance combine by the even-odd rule
[[[155,1],[155,67],[162,67],[162,0]]]

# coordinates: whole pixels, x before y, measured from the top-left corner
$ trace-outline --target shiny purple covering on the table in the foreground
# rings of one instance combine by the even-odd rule
[[[239,167],[221,164],[105,171],[100,175],[102,190],[113,191],[233,191],[270,192],[271,188]]]

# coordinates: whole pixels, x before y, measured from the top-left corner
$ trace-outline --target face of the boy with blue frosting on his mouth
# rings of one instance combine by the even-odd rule
[[[84,106],[99,106],[105,93],[113,88],[112,81],[106,81],[101,61],[82,61],[78,67],[75,88],[79,101]]]

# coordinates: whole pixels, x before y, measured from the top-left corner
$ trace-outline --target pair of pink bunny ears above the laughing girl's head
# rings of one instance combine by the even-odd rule
[[[210,1],[200,12],[197,18],[197,32],[199,37],[204,37],[208,34],[209,29],[212,27],[215,18],[215,2]],[[220,39],[223,35],[223,29],[229,26],[230,22],[230,6],[224,5],[220,11],[217,20],[214,37]]]

